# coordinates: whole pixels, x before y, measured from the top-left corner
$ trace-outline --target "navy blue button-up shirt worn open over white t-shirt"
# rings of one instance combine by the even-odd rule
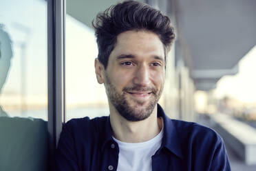
[[[162,145],[152,156],[152,170],[231,170],[222,138],[197,123],[164,121]],[[65,123],[56,151],[56,170],[116,170],[118,144],[109,117],[72,119]]]

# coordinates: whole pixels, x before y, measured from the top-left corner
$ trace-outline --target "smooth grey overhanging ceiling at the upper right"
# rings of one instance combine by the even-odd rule
[[[215,88],[256,45],[255,0],[179,0],[176,3],[181,46],[191,77],[200,90]]]

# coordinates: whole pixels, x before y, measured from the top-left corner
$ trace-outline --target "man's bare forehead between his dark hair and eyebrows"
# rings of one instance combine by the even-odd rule
[[[145,30],[131,30],[118,35],[111,56],[133,54],[136,57],[164,57],[164,46],[157,34]]]

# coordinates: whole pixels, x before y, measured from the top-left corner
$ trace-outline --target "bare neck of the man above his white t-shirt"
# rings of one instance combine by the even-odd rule
[[[114,137],[126,143],[139,143],[153,139],[162,129],[162,120],[157,117],[157,105],[152,114],[142,121],[127,121],[114,108],[109,106],[110,123]]]

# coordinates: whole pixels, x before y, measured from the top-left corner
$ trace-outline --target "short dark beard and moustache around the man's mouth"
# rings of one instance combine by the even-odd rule
[[[114,105],[114,108],[116,108],[118,113],[122,117],[127,119],[127,121],[142,121],[144,119],[147,119],[153,112],[153,109],[156,107],[156,103],[158,103],[160,95],[162,94],[162,88],[159,91],[157,91],[156,88],[147,88],[145,86],[138,85],[123,88],[122,94],[120,94],[116,90],[116,87],[111,83],[111,81],[107,77],[107,74],[105,75],[105,78],[105,88],[110,102],[112,103],[112,105]],[[127,94],[129,94],[129,91],[151,92],[149,94],[151,96],[151,99],[149,99],[149,101],[146,102],[130,99],[130,101],[133,101],[135,104],[134,106],[132,106],[126,97]],[[145,107],[141,108],[142,105],[145,105]]]

